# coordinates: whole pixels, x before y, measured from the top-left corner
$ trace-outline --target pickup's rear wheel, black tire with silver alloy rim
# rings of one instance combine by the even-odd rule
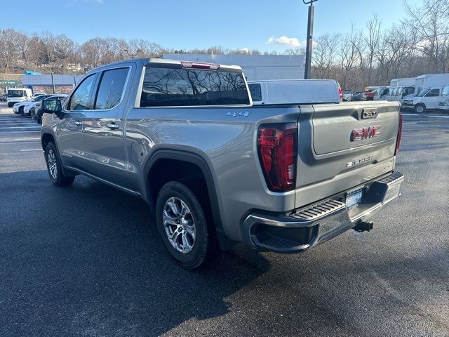
[[[156,223],[163,244],[176,262],[188,269],[199,267],[217,251],[206,202],[194,185],[187,187],[178,181],[163,185],[156,201]]]

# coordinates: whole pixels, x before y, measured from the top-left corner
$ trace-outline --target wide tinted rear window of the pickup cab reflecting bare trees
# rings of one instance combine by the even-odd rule
[[[147,67],[140,107],[249,104],[240,72]]]

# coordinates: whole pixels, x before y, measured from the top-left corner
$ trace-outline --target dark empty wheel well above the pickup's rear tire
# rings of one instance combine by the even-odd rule
[[[147,178],[147,197],[153,206],[161,187],[171,180],[193,183],[201,189],[203,197],[207,198],[206,201],[210,204],[206,178],[196,164],[177,159],[158,159],[149,170]]]

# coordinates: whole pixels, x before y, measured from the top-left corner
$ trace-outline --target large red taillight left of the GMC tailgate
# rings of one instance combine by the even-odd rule
[[[266,124],[259,128],[257,150],[269,190],[295,189],[297,124]]]

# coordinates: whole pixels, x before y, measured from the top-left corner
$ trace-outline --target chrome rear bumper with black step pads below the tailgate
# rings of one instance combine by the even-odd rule
[[[279,253],[306,251],[373,217],[400,195],[404,176],[394,172],[363,185],[359,204],[347,208],[347,191],[288,215],[251,213],[243,221],[246,244]]]

